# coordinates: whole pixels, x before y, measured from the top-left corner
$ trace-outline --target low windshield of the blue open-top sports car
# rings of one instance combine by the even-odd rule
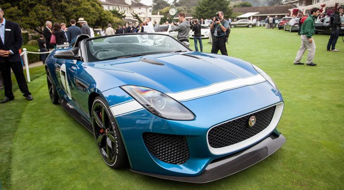
[[[190,51],[167,35],[132,34],[87,40],[88,62],[123,59],[140,55]]]

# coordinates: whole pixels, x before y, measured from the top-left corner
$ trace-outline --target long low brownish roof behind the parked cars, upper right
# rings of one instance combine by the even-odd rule
[[[253,7],[235,7],[233,12],[259,12],[259,15],[289,14],[289,9],[296,8],[295,5],[281,6],[253,6]]]

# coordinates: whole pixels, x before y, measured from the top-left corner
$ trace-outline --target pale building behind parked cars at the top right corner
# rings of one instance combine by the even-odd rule
[[[326,7],[333,7],[337,2],[339,5],[344,4],[344,0],[289,0],[283,4],[296,5],[299,10],[305,13],[306,10],[310,10],[313,7],[321,8],[320,5],[322,4],[325,4],[325,7],[323,8],[323,11],[325,11]],[[293,8],[289,10],[292,14]]]

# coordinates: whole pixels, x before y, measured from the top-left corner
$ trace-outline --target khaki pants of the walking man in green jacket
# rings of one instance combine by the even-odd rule
[[[313,62],[313,59],[315,56],[315,41],[313,38],[313,42],[309,43],[308,37],[306,35],[301,35],[301,47],[298,53],[296,54],[294,63],[300,63],[300,60],[302,59],[302,55],[306,49],[308,49],[307,64],[310,64]]]

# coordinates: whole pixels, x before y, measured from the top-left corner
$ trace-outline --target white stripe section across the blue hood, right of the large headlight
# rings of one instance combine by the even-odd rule
[[[217,94],[226,90],[231,90],[243,86],[253,85],[260,82],[264,82],[265,78],[261,75],[250,76],[247,78],[237,78],[233,80],[228,80],[224,82],[214,83],[209,86],[195,88],[191,90],[186,90],[177,93],[166,93],[168,96],[172,97],[173,99],[181,102],[181,101],[188,101],[196,98],[201,98],[204,96],[209,96],[212,94]]]

